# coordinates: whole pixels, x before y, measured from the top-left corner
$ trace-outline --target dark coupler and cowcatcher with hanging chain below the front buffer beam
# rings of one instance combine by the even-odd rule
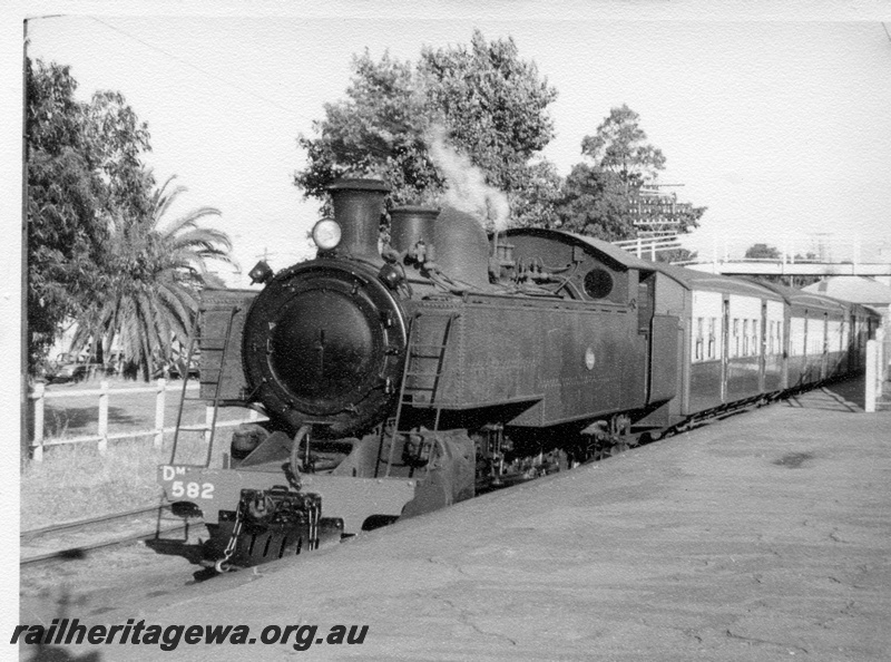
[[[323,518],[322,497],[283,486],[242,489],[237,510],[221,510],[208,542],[217,571],[248,567],[339,543],[343,520]]]

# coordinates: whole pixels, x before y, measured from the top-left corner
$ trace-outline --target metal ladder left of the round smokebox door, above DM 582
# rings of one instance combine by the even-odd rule
[[[205,457],[204,465],[179,465],[179,466],[203,466],[208,467],[210,466],[210,454],[214,449],[214,436],[216,435],[216,416],[219,411],[219,388],[223,383],[223,366],[226,364],[226,353],[229,349],[229,340],[232,340],[232,323],[235,320],[235,315],[238,313],[238,306],[233,305],[232,311],[229,313],[229,319],[226,322],[226,334],[223,337],[199,337],[198,335],[198,318],[200,315],[195,315],[195,323],[192,327],[192,334],[189,335],[188,340],[188,349],[186,350],[186,362],[185,369],[183,374],[183,390],[179,393],[179,411],[176,415],[176,429],[174,430],[174,444],[173,449],[170,450],[170,464],[176,464],[176,448],[179,442],[179,435],[180,432],[199,432],[204,438],[207,440],[207,456]],[[207,347],[207,343],[213,342],[222,342],[223,347]],[[213,398],[204,398],[200,395],[198,397],[189,397],[187,396],[187,388],[188,381],[190,378],[190,367],[192,367],[192,359],[195,356],[195,348],[199,348],[202,352],[208,351],[219,351],[222,352],[219,357],[219,364],[217,368],[206,368],[200,371],[198,376],[198,392],[200,393],[202,384],[209,384],[214,387],[214,397]],[[207,363],[207,361],[204,361]],[[210,377],[216,374],[215,378],[208,379],[208,373]],[[183,424],[183,410],[186,407],[186,402],[212,402],[212,412],[210,412],[210,420],[206,420],[204,425],[195,425],[195,426],[184,426]]]

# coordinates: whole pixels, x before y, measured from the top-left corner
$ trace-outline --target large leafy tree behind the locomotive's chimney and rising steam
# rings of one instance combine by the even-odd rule
[[[307,197],[364,174],[386,179],[396,204],[434,203],[450,178],[431,153],[442,139],[508,194],[515,217],[548,213],[533,195],[555,188],[552,167],[533,157],[554,136],[547,106],[557,93],[512,39],[488,42],[477,30],[470,46],[424,48],[417,64],[365,51],[353,71],[346,99],[325,105],[315,137],[298,138],[307,166],[295,183]]]

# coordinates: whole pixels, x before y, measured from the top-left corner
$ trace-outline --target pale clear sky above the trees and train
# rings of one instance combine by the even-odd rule
[[[305,164],[296,138],[313,135],[325,103],[344,98],[352,56],[368,48],[375,59],[417,60],[424,45],[468,43],[474,28],[489,40],[512,37],[557,88],[556,137],[544,155],[560,174],[582,159],[582,138],[610,108],[638,113],[667,157],[660,182],[683,184],[672,188],[679,199],[708,207],[687,241],[702,254],[715,242],[781,245],[787,234],[806,249],[814,233],[860,236],[868,253],[891,247],[891,37],[879,20],[655,10],[642,13],[647,20],[593,11],[407,18],[353,7],[360,17],[88,7],[30,20],[28,52],[70,65],[84,99],[97,89],[125,95],[149,125],[146,160],[158,182],[176,175],[188,188],[179,211],[222,211],[208,223],[229,234],[244,273],[264,255],[282,269],[312,253],[305,237],[317,203],[293,185]]]

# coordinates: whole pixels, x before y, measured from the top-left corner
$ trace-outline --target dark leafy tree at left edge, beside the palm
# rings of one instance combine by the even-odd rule
[[[46,354],[62,320],[97,290],[108,220],[145,194],[137,155],[145,124],[120,95],[75,98],[68,67],[26,65],[29,362]]]

